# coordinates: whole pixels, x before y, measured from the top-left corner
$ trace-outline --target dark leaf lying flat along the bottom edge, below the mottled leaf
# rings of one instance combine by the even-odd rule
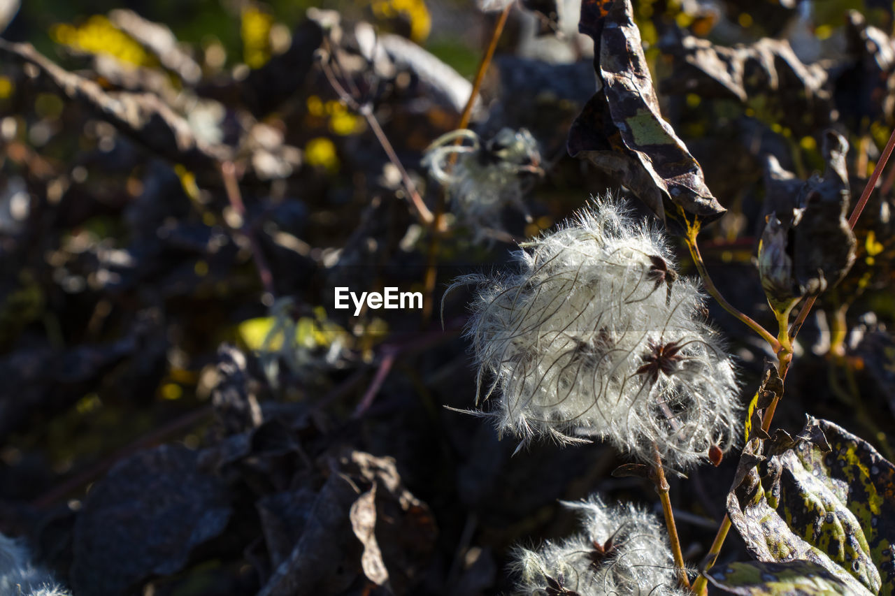
[[[721,591],[742,596],[829,596],[848,592],[845,583],[811,561],[737,562],[712,567],[705,576]]]

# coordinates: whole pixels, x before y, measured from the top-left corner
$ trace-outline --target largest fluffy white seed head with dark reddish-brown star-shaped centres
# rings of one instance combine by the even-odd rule
[[[466,335],[479,396],[499,397],[483,415],[523,442],[598,436],[647,462],[655,443],[676,468],[732,445],[733,366],[658,230],[598,200],[522,246],[516,273],[456,282],[478,286]]]

